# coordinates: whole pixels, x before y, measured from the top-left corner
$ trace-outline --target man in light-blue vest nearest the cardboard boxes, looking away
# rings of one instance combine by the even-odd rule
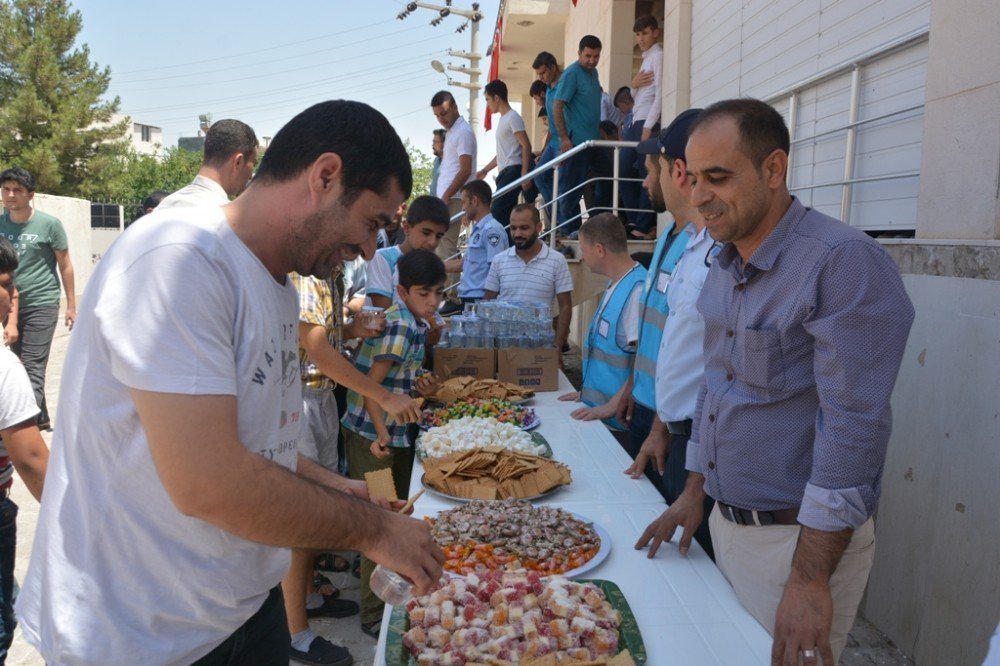
[[[573,418],[601,419],[612,429],[624,431],[615,419],[615,405],[608,403],[632,375],[646,269],[629,255],[625,229],[611,213],[595,215],[580,227],[580,254],[587,268],[610,283],[584,341],[583,387],[579,393],[567,393],[559,399],[587,405],[574,411]],[[601,407],[595,408],[597,405]]]

